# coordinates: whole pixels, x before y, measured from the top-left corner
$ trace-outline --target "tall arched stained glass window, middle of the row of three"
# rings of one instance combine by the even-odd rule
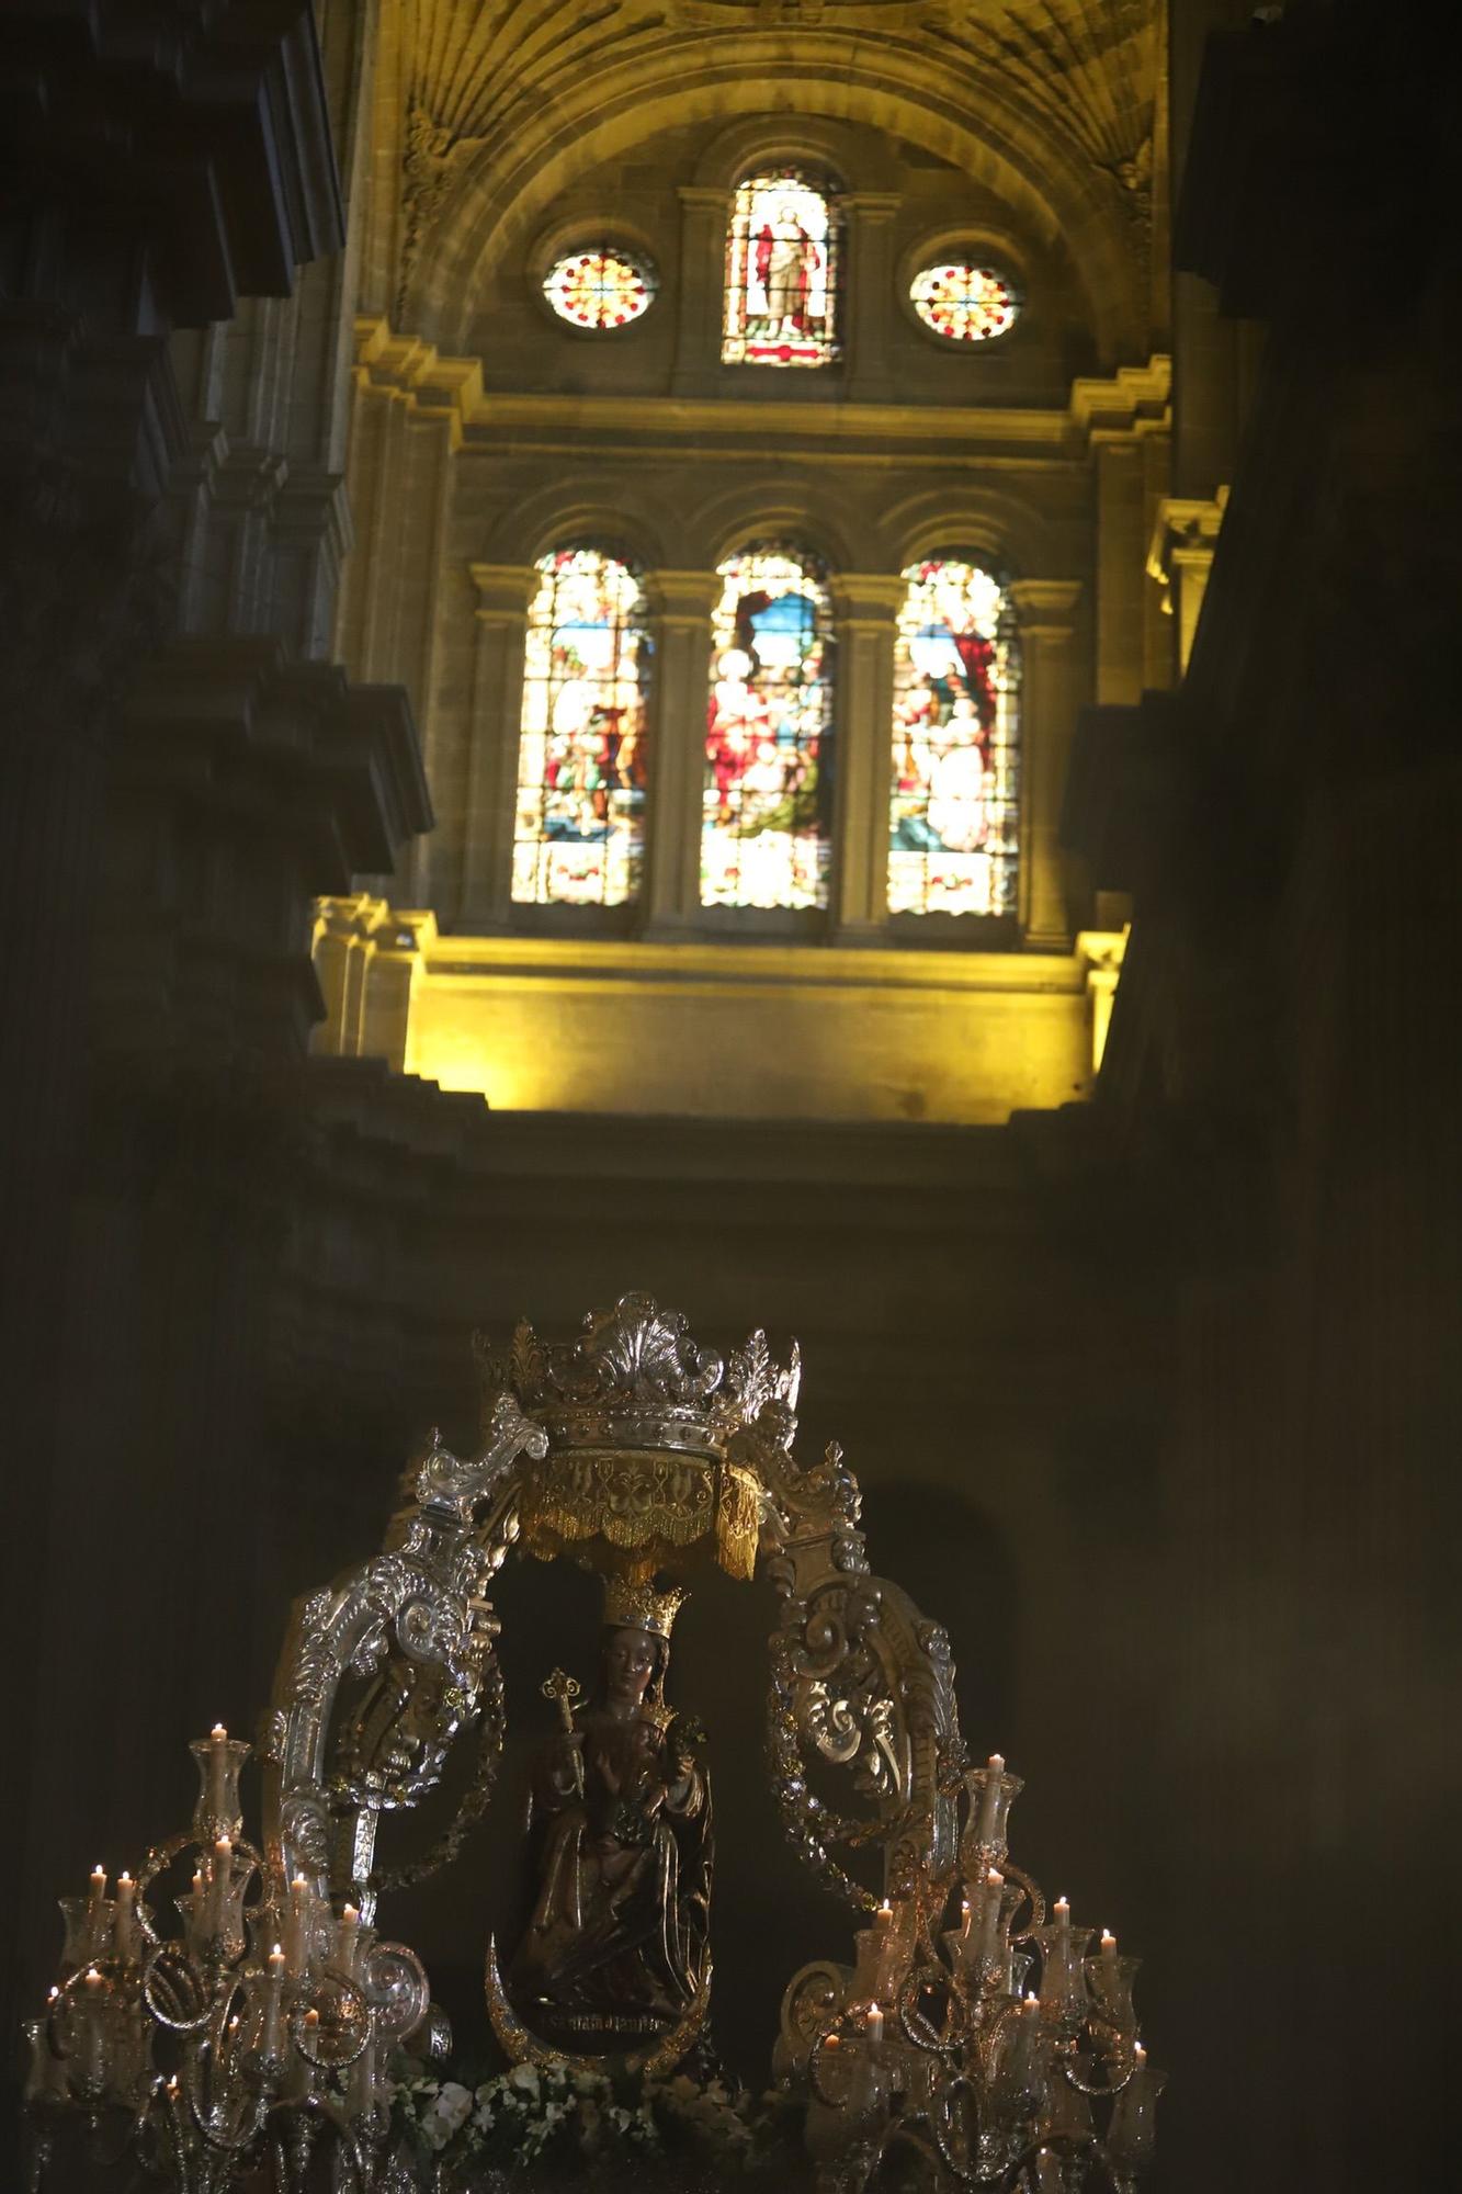
[[[825,906],[832,636],[825,575],[786,542],[718,570],[705,735],[705,906]]]

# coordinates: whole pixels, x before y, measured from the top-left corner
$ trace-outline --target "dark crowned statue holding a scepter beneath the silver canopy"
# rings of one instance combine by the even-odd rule
[[[711,1790],[665,1707],[683,1593],[610,1577],[599,1683],[533,1764],[536,1900],[507,1972],[553,2049],[612,2054],[670,2034],[707,1970]],[[562,1694],[558,1694],[562,1696]]]

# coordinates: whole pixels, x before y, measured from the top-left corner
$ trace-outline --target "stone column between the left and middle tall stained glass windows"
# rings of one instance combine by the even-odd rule
[[[705,711],[711,678],[713,570],[656,570],[645,581],[654,685],[643,928],[676,937],[700,919]]]

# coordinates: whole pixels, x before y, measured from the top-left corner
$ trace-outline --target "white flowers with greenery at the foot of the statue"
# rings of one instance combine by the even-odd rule
[[[446,2190],[544,2185],[612,2187],[788,2185],[779,2097],[755,2102],[724,2080],[608,2078],[591,2067],[514,2065],[476,2084],[454,2069],[397,2058],[393,2117],[402,2148],[432,2163]],[[790,2170],[786,2165],[792,2165]]]

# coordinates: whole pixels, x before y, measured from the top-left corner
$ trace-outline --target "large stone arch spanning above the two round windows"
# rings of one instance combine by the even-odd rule
[[[1003,86],[977,79],[931,94],[920,53],[788,59],[777,37],[744,37],[735,55],[685,44],[641,53],[634,66],[586,75],[518,127],[476,140],[457,165],[413,279],[408,309],[435,340],[468,340],[481,268],[494,250],[533,233],[544,206],[577,176],[661,129],[687,121],[764,116],[775,72],[788,140],[808,121],[852,121],[904,136],[983,182],[1045,248],[1065,246],[1102,355],[1139,355],[1144,307],[1126,219],[1113,189],[1062,147]]]

